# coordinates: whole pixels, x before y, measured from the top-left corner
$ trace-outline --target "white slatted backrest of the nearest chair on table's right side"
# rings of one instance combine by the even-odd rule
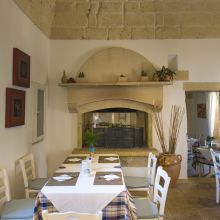
[[[167,198],[167,192],[170,184],[170,177],[167,172],[163,170],[161,166],[157,168],[157,174],[154,184],[154,196],[153,202],[155,202],[159,207],[159,215],[164,215],[164,208]]]

